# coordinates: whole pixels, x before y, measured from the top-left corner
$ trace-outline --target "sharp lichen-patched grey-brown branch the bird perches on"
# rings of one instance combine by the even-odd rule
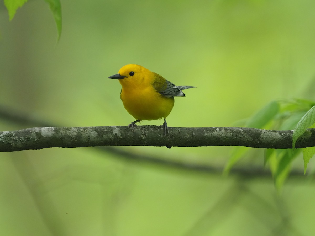
[[[240,127],[169,127],[163,137],[159,126],[35,127],[0,132],[0,151],[20,151],[51,147],[89,146],[245,146],[290,149],[292,130],[261,130]],[[296,148],[315,146],[315,129],[307,129]]]

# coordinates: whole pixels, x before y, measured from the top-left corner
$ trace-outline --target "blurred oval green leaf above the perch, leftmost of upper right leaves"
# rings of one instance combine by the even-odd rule
[[[258,111],[246,124],[246,127],[263,128],[269,121],[271,121],[279,111],[279,103],[272,101],[263,109]]]

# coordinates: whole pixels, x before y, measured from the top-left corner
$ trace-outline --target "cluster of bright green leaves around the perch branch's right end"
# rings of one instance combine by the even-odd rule
[[[292,149],[265,149],[264,165],[269,166],[275,186],[280,189],[291,170],[292,161],[303,153],[304,173],[307,163],[315,154],[315,147],[294,149],[298,138],[307,135],[307,129],[314,127],[315,102],[305,99],[290,99],[272,101],[258,111],[251,118],[240,121],[244,127],[293,130]],[[297,125],[296,125],[297,124]],[[247,147],[234,147],[232,156],[226,164],[225,173],[228,173],[241,158],[250,151]]]

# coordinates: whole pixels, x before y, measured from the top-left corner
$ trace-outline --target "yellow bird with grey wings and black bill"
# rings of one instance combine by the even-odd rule
[[[136,121],[129,124],[135,128],[142,120],[159,120],[164,118],[162,126],[164,137],[169,133],[166,117],[174,106],[174,97],[185,97],[182,90],[195,86],[176,86],[162,76],[141,65],[124,65],[118,74],[108,77],[118,79],[122,89],[120,99],[123,106]]]

